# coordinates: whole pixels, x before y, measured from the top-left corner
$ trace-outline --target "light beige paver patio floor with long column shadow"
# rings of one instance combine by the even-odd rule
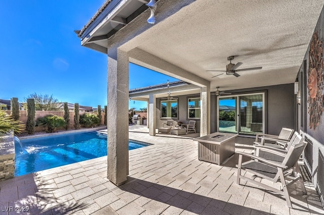
[[[323,214],[318,194],[289,188],[284,197],[249,183],[236,184],[238,155],[220,166],[197,159],[197,142],[130,132],[153,145],[131,150],[128,182],[106,178],[107,157],[99,157],[0,182],[0,214],[10,206],[21,214]],[[252,151],[251,138],[236,138],[236,151]],[[305,170],[301,166],[302,170]],[[280,185],[279,185],[280,186]],[[7,208],[7,209],[6,209]]]

